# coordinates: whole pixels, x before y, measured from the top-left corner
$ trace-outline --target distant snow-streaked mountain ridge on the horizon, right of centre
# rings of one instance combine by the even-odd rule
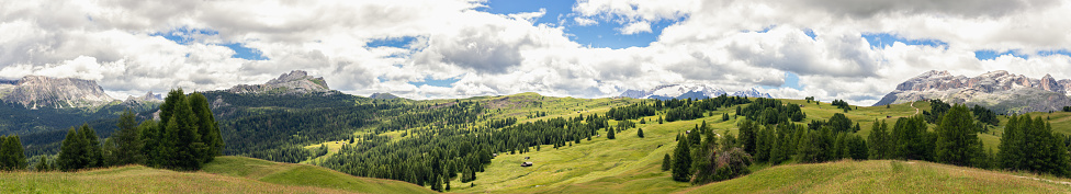
[[[719,95],[730,95],[730,96],[748,96],[748,98],[767,98],[773,96],[769,93],[763,93],[758,90],[751,89],[745,91],[736,91],[732,94],[725,92],[722,89],[715,89],[708,87],[706,84],[664,84],[655,87],[649,91],[642,90],[627,90],[618,96],[632,98],[632,99],[707,99],[717,98]]]

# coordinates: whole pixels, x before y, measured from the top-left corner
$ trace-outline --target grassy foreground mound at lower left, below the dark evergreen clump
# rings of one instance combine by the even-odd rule
[[[243,157],[219,157],[203,171],[142,166],[74,173],[0,172],[0,193],[433,193],[391,180]]]

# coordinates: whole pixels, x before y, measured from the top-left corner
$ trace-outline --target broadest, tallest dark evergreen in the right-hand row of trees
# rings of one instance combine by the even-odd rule
[[[982,152],[974,119],[967,105],[957,104],[942,116],[937,126],[936,159],[938,162],[955,166],[972,166],[976,153]],[[978,149],[978,150],[976,150]]]

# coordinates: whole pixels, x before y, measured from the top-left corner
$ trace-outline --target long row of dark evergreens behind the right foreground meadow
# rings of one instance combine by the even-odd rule
[[[762,104],[779,103],[758,99],[748,106]],[[936,127],[927,125],[932,115],[899,118],[891,128],[875,121],[866,138],[855,134],[858,124],[850,127],[852,121],[839,113],[804,126],[781,118],[767,124],[765,117],[771,116],[754,114],[757,109],[748,110],[752,111],[744,113],[757,117],[742,121],[740,135],[725,134],[719,139],[706,123],[678,135],[672,156],[663,158],[663,170],[670,171],[675,181],[703,184],[747,174],[747,166],[753,162],[776,166],[789,160],[814,163],[897,159],[1071,176],[1069,138],[1053,133],[1040,117],[1012,116],[1001,137],[1001,151],[994,153],[983,150],[977,136],[978,125],[988,124],[978,118],[988,113],[982,111],[982,116],[976,116],[980,109],[961,104],[939,110],[943,114]],[[788,116],[787,112],[779,114]]]

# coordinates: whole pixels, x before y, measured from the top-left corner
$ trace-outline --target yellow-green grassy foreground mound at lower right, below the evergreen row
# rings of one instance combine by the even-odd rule
[[[925,161],[839,161],[768,168],[679,193],[1069,193],[1067,179]]]

